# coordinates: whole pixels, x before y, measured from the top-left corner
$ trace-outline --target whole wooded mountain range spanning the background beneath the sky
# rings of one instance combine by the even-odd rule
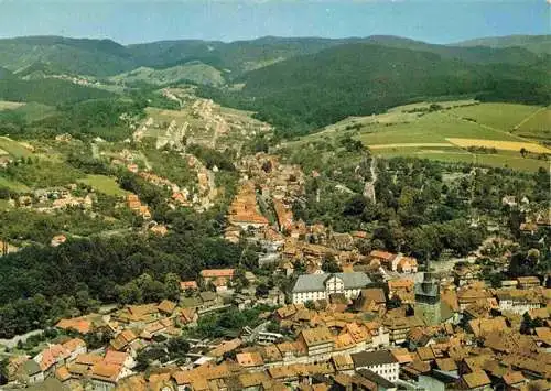
[[[35,86],[25,83],[52,75],[85,75],[125,87],[191,82],[203,86],[201,94],[255,110],[279,128],[311,130],[347,116],[437,97],[549,104],[550,42],[549,35],[453,45],[383,35],[267,36],[125,46],[109,40],[18,37],[0,40],[0,98],[36,99],[31,94]],[[57,91],[69,84],[56,82]],[[82,88],[61,94],[64,102],[73,101],[73,93],[79,99],[96,95]]]

